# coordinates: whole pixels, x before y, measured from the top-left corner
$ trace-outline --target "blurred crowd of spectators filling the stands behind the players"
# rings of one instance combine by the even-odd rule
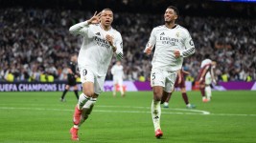
[[[81,47],[81,37],[70,34],[69,27],[93,13],[22,8],[0,13],[0,81],[42,81],[42,74],[66,80],[70,55]],[[256,79],[256,20],[181,15],[177,23],[190,31],[197,49],[184,60],[190,80],[196,79],[206,53],[217,62],[219,81]],[[124,43],[125,80],[149,80],[152,55],[143,51],[152,28],[163,24],[163,14],[114,12],[113,28]],[[108,72],[106,79],[111,78]]]

